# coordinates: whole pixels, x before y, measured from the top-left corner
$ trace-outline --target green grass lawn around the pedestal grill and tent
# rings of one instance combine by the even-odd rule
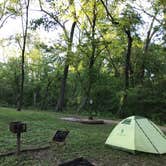
[[[64,116],[55,112],[17,112],[14,109],[0,108],[0,153],[16,149],[16,135],[9,131],[9,123],[12,121],[27,123],[28,131],[22,134],[23,149],[51,145],[47,150],[0,157],[0,166],[56,166],[76,157],[85,157],[97,166],[166,165],[166,155],[133,155],[106,146],[105,140],[114,126],[85,125],[60,120]],[[70,131],[63,147],[50,143],[57,129]]]

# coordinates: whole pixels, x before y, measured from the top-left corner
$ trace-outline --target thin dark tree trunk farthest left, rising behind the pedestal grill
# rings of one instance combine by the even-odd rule
[[[25,77],[25,71],[24,71],[24,69],[25,69],[25,47],[26,47],[27,30],[28,30],[29,2],[30,2],[30,0],[27,1],[27,5],[26,5],[25,31],[23,29],[23,47],[22,47],[22,54],[21,54],[21,87],[20,87],[20,94],[19,94],[18,105],[17,105],[18,111],[21,111],[22,104],[23,104],[24,77]]]

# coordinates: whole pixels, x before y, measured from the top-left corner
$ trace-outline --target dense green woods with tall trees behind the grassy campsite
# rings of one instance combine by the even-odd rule
[[[166,121],[166,4],[144,3],[2,1],[0,31],[20,19],[22,34],[0,36],[0,106]]]

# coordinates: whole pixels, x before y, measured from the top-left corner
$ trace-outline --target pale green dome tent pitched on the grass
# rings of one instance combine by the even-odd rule
[[[164,133],[152,121],[140,116],[131,116],[118,123],[106,144],[133,153],[166,153]]]

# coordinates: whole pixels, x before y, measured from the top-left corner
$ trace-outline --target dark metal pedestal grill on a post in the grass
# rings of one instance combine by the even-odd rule
[[[22,122],[11,122],[9,124],[9,129],[12,133],[17,134],[17,155],[20,154],[20,145],[21,145],[21,133],[27,131],[26,123]]]

